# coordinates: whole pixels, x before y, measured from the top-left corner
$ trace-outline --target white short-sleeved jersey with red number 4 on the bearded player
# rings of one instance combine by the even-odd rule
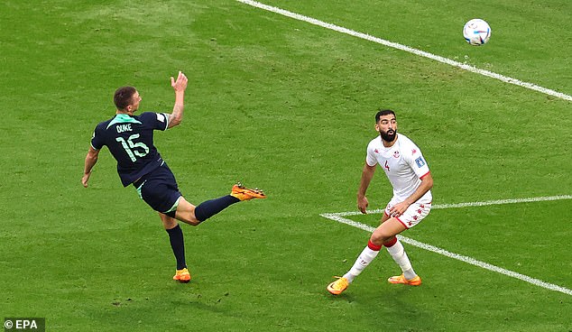
[[[417,190],[421,179],[429,173],[429,166],[423,159],[420,148],[404,134],[397,134],[397,141],[392,147],[383,146],[382,137],[375,137],[367,145],[365,162],[369,166],[379,164],[385,175],[392,182],[393,204],[402,202]],[[431,190],[417,202],[430,203]]]

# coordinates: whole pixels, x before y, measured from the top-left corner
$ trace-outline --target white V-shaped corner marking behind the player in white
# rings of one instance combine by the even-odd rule
[[[517,199],[491,200],[491,201],[487,201],[487,202],[443,204],[443,205],[435,205],[435,206],[433,206],[433,208],[483,207],[483,206],[488,206],[488,205],[511,204],[511,203],[521,203],[521,202],[539,202],[539,201],[556,200],[556,199],[572,199],[572,195],[552,196],[552,197],[546,197],[546,198],[517,198]],[[368,211],[368,212],[369,213],[381,213],[381,212],[383,212],[383,210],[373,210],[373,211]],[[345,218],[346,216],[355,216],[358,214],[361,214],[361,213],[359,213],[359,212],[357,212],[357,213],[355,213],[355,212],[324,213],[324,214],[321,214],[320,216],[328,218],[330,220],[337,221],[338,223],[342,223],[342,224],[346,224],[349,226],[354,226],[356,228],[363,229],[364,231],[367,231],[367,232],[374,232],[375,227],[373,227],[373,226],[364,225],[364,224],[358,223],[354,220],[350,220],[350,219]],[[436,254],[442,254],[442,255],[447,256],[449,258],[453,258],[453,259],[456,259],[456,260],[461,261],[461,262],[469,263],[469,264],[475,265],[477,267],[483,268],[485,270],[501,273],[501,274],[507,275],[509,277],[519,279],[521,281],[526,281],[526,282],[529,282],[535,286],[539,286],[539,287],[545,288],[545,289],[550,290],[550,291],[559,291],[559,292],[565,293],[567,295],[572,295],[572,290],[569,290],[565,287],[558,286],[558,285],[555,285],[553,283],[549,283],[546,281],[541,281],[539,279],[532,278],[532,277],[529,277],[527,275],[524,275],[524,274],[521,274],[518,272],[506,270],[506,269],[503,269],[502,267],[498,267],[498,266],[495,266],[493,264],[477,261],[477,260],[475,260],[475,258],[464,256],[462,254],[451,253],[445,249],[441,249],[441,248],[434,246],[434,245],[431,245],[431,244],[424,244],[422,242],[419,242],[417,240],[413,240],[413,239],[411,239],[409,237],[405,237],[403,235],[397,235],[397,236],[399,237],[401,242],[404,242],[406,244],[411,244],[411,245],[416,246],[416,247],[421,248],[421,249],[428,250],[429,252],[433,252]]]

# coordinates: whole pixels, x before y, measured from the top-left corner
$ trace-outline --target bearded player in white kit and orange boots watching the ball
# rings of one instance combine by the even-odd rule
[[[392,183],[393,197],[383,211],[381,225],[374,230],[367,246],[357,257],[352,268],[343,277],[328,285],[328,291],[334,295],[346,290],[354,278],[379,254],[383,245],[395,263],[401,267],[402,272],[401,275],[391,277],[388,281],[412,286],[421,284],[420,276],[413,271],[403,245],[396,235],[416,226],[429,214],[433,178],[419,147],[405,135],[397,134],[397,121],[392,110],[383,109],[377,112],[375,130],[380,135],[367,145],[367,157],[357,192],[357,207],[362,213],[366,213],[369,203],[365,191],[374,177],[378,164]]]

